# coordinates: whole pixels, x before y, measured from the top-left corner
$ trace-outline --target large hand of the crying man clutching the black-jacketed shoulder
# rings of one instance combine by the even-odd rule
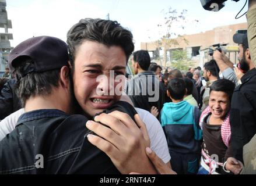
[[[150,139],[146,126],[138,114],[135,115],[137,124],[129,115],[119,111],[102,113],[94,120],[102,124],[87,121],[86,127],[99,135],[87,135],[89,142],[105,152],[122,174],[131,171],[157,173],[145,153],[145,148],[150,146]]]

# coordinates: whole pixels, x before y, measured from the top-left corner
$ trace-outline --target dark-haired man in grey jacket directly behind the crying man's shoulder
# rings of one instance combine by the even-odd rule
[[[153,71],[149,71],[150,56],[148,51],[134,52],[132,65],[136,76],[128,82],[127,95],[135,107],[150,112],[152,106],[155,106],[160,113],[164,103],[164,90]]]

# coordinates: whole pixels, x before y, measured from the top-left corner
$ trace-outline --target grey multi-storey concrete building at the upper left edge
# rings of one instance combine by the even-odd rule
[[[7,59],[12,47],[10,41],[13,40],[8,28],[12,28],[12,21],[8,19],[6,12],[6,1],[0,0],[0,71],[4,71],[8,65]]]

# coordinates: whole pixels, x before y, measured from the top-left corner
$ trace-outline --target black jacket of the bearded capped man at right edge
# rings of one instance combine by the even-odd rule
[[[249,70],[235,88],[231,110],[231,144],[234,158],[243,162],[243,146],[256,134],[256,69]]]

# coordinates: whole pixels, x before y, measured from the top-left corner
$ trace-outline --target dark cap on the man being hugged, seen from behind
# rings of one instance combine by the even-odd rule
[[[59,38],[50,36],[32,37],[13,48],[8,57],[10,69],[29,57],[34,62],[30,71],[43,72],[68,66],[68,46]]]

